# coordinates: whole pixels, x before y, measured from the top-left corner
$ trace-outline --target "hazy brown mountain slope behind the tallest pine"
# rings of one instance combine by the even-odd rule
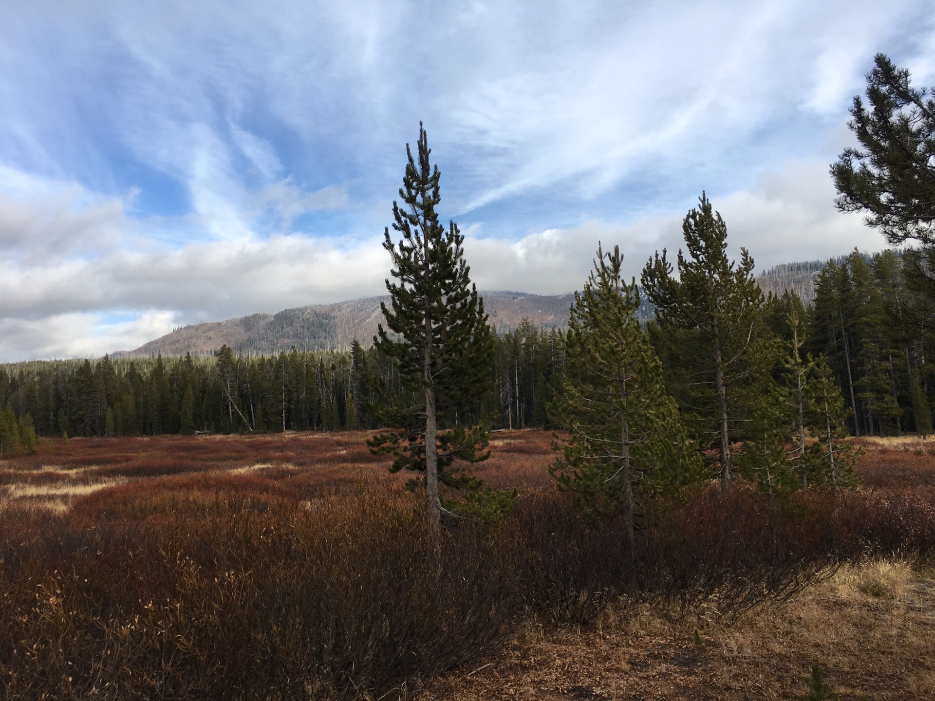
[[[571,294],[483,293],[483,306],[500,333],[516,328],[523,319],[536,326],[564,327],[568,323]],[[381,302],[389,295],[354,299],[331,305],[283,309],[277,314],[251,314],[225,322],[196,323],[156,338],[137,350],[112,353],[115,358],[163,355],[208,355],[229,346],[235,352],[278,353],[298,350],[348,350],[357,338],[365,346],[383,321]]]

